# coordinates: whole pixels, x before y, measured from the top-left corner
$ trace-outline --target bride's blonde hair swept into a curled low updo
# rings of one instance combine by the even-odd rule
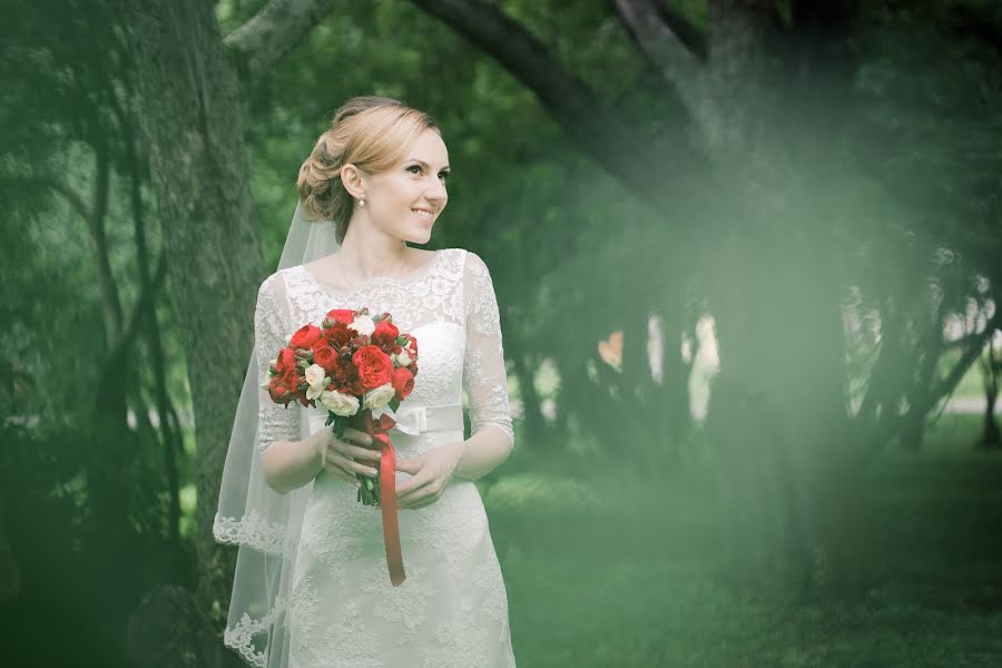
[[[350,99],[334,114],[331,128],[299,167],[296,188],[306,217],[332,220],[337,243],[342,243],[355,203],[341,181],[341,168],[351,163],[365,174],[385,171],[401,163],[429,128],[442,134],[431,116],[392,98]]]

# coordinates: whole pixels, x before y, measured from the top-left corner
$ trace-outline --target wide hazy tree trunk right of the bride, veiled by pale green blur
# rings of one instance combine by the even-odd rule
[[[846,277],[827,244],[837,222],[818,203],[829,197],[827,140],[849,111],[853,60],[837,35],[797,49],[772,2],[708,7],[692,108],[716,165],[709,178],[726,197],[714,212],[725,217],[710,225],[723,230],[707,267],[720,373],[706,423],[729,519],[725,554],[746,582],[811,567],[832,584],[852,582],[865,536],[863,449],[843,396]],[[817,26],[837,32],[845,22]]]

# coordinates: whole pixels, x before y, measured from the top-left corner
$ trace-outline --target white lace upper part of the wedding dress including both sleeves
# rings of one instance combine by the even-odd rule
[[[261,285],[254,316],[258,384],[267,384],[268,363],[306,323],[320,325],[332,308],[389,311],[401,332],[418,340],[418,375],[410,396],[415,405],[460,403],[465,390],[473,433],[488,425],[513,442],[500,313],[487,265],[475,253],[445,248],[414,276],[376,277],[351,291],[320,282],[303,265],[279,269]],[[275,404],[259,390],[258,446],[299,438],[307,410]]]

